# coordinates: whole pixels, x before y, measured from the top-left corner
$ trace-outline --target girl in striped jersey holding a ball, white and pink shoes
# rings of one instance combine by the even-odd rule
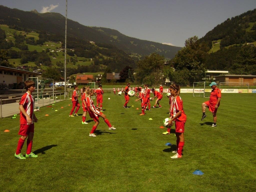
[[[187,120],[187,116],[183,110],[183,102],[179,96],[180,94],[180,86],[177,84],[170,85],[171,95],[173,97],[171,103],[171,120],[169,120],[168,126],[170,127],[175,121],[175,129],[176,129],[176,137],[177,137],[177,151],[173,151],[176,153],[171,158],[181,158],[182,157],[182,149],[184,146],[184,129],[185,123]]]

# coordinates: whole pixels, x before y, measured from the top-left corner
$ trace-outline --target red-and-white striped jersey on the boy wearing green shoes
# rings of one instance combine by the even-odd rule
[[[29,95],[28,92],[26,92],[24,95],[22,95],[22,98],[19,104],[23,105],[23,108],[25,109],[26,113],[30,116],[32,123],[34,123],[33,115],[34,115],[35,100],[33,95]],[[26,116],[23,115],[22,112],[20,112],[20,124],[28,125]]]

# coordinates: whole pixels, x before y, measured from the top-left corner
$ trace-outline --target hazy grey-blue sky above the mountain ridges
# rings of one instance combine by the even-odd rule
[[[1,0],[0,5],[63,16],[66,13],[65,0]],[[183,47],[189,37],[201,38],[227,18],[255,8],[256,0],[68,0],[68,18],[86,26],[116,29],[130,37]]]

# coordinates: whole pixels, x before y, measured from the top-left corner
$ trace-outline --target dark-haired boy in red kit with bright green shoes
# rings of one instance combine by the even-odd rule
[[[26,159],[26,157],[38,157],[38,155],[31,152],[34,137],[34,122],[37,122],[36,115],[34,114],[35,100],[33,95],[31,95],[31,93],[33,93],[35,90],[35,82],[25,81],[24,87],[27,92],[22,96],[19,103],[20,128],[18,134],[21,135],[21,137],[19,138],[17,149],[14,154],[14,156],[18,159]],[[26,157],[24,157],[21,150],[27,137],[27,151],[25,155]]]

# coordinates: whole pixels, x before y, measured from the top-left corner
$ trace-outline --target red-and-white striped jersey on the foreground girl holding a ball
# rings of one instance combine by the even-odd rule
[[[179,121],[186,122],[187,116],[183,110],[183,101],[178,95],[175,99],[172,99],[171,102],[171,116],[175,117],[175,115],[181,111],[180,116],[177,118]]]

